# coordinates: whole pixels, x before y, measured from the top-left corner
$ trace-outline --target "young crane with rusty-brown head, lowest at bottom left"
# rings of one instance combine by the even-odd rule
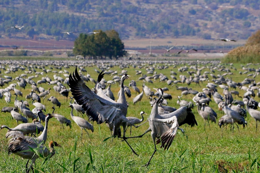
[[[24,159],[28,159],[26,164],[26,173],[29,173],[30,169],[33,171],[33,165],[35,165],[35,160],[39,158],[37,154],[32,152],[31,149],[38,150],[44,157],[53,157],[55,154],[55,147],[61,147],[57,142],[51,141],[49,143],[50,151],[44,145],[37,145],[35,142],[27,141],[22,137],[18,137],[15,140],[11,141],[8,145],[8,155],[13,153],[17,156],[20,156]],[[29,160],[32,160],[30,167],[28,168]]]

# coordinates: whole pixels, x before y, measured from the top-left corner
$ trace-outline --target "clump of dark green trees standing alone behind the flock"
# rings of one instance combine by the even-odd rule
[[[95,34],[83,34],[81,33],[74,42],[73,53],[75,55],[81,55],[84,58],[86,56],[109,57],[110,59],[122,57],[125,55],[124,43],[121,41],[119,34],[115,30],[108,30],[103,32],[102,30],[95,30]]]

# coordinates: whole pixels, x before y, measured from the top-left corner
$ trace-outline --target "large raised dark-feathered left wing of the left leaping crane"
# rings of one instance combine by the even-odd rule
[[[71,88],[73,98],[79,105],[82,105],[82,108],[93,120],[99,123],[104,121],[111,123],[115,116],[121,113],[120,104],[98,96],[85,85],[78,74],[77,68],[72,75],[69,75],[69,87]]]

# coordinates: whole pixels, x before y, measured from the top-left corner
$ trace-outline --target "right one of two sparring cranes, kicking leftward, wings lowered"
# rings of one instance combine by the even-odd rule
[[[163,147],[164,149],[167,150],[169,149],[177,133],[177,129],[179,126],[185,123],[194,126],[194,124],[197,125],[197,122],[195,120],[194,114],[191,112],[191,109],[188,109],[187,107],[181,107],[175,112],[169,114],[159,115],[158,104],[160,99],[163,96],[163,91],[161,88],[154,88],[154,90],[156,90],[160,95],[153,105],[153,109],[148,118],[150,128],[148,128],[145,133],[151,131],[151,137],[154,142],[154,153],[155,153],[157,151],[156,144],[159,144],[160,142],[162,142],[161,148]],[[136,136],[136,137],[129,137],[129,138],[140,138],[142,136],[143,135]],[[156,138],[158,139],[155,142]],[[144,166],[147,167],[150,164],[150,161],[154,156],[154,153],[152,154],[148,163],[145,164]]]

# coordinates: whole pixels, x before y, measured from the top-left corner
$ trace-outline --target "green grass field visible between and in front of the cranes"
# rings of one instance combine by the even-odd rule
[[[188,66],[188,64],[186,65]],[[157,64],[155,66],[157,66]],[[184,66],[184,64],[178,65],[177,68],[169,66],[169,68],[165,70],[159,70],[156,68],[155,71],[157,73],[163,73],[170,79],[170,71],[173,70],[177,72],[177,69],[180,66]],[[238,74],[239,71],[242,71],[242,67],[240,64],[234,64],[234,66],[237,68],[237,71],[231,69],[231,71],[234,73],[234,75],[232,75],[232,80],[236,82],[243,81],[243,79],[246,78],[246,75]],[[228,67],[228,65],[226,65],[226,67]],[[253,65],[251,67],[258,68]],[[98,73],[94,71],[94,68],[96,67],[86,67],[87,72],[93,79],[96,80]],[[46,67],[46,69],[49,69],[49,67]],[[118,73],[121,71],[121,69],[118,67],[113,67],[111,69],[118,70]],[[36,70],[42,72],[40,69]],[[70,67],[66,70],[72,72],[75,70],[75,67]],[[127,68],[127,70],[128,75],[132,76],[131,79],[137,80],[139,78],[139,76],[134,76],[136,72],[132,66]],[[142,70],[143,74],[146,74],[145,68],[140,70]],[[2,73],[3,71],[4,70],[2,70]],[[209,71],[209,69],[206,68],[202,70],[202,73],[204,71]],[[15,78],[22,73],[24,72],[19,70],[15,74],[11,73],[7,75]],[[216,71],[216,75],[219,73],[220,72]],[[180,74],[180,72],[177,72],[176,77],[179,78]],[[183,74],[188,76],[187,72],[184,72]],[[43,76],[46,76],[46,74]],[[37,82],[43,76],[39,75],[38,78],[34,78],[33,80]],[[48,73],[48,76],[54,80],[53,73]],[[65,79],[62,74],[61,76]],[[210,75],[209,77],[211,80]],[[226,77],[231,76],[229,75]],[[104,78],[106,80],[111,79],[110,75],[105,75]],[[259,80],[260,79],[257,76],[256,82],[259,82]],[[124,85],[128,86],[129,82],[130,80],[126,80]],[[16,83],[16,81],[14,80],[12,83]],[[93,88],[95,85],[91,82],[86,84],[89,88]],[[142,84],[143,82],[141,81],[137,82],[137,87],[141,89]],[[202,91],[202,88],[206,88],[206,84],[206,82],[203,82],[201,83],[201,87],[199,87],[194,83],[191,83],[190,87],[194,90]],[[176,90],[176,87],[170,87],[167,85],[167,83],[159,82],[159,80],[154,82],[154,84],[146,83],[146,85],[150,88],[168,87],[169,91],[166,91],[166,93],[172,94],[173,96],[172,100],[168,100],[168,106],[176,108],[179,107],[179,105],[176,103],[176,97],[181,94],[181,91]],[[179,86],[186,85],[187,84],[185,83],[179,84]],[[43,84],[42,87],[45,89],[51,87],[50,95],[48,95],[47,98],[50,96],[55,96],[53,86]],[[20,88],[17,87],[17,89]],[[119,89],[120,87],[118,84],[115,84],[111,87],[111,90],[113,91],[116,99],[118,98],[117,93]],[[144,95],[140,106],[139,104],[133,105],[132,99],[136,96],[136,94],[132,88],[130,88],[130,90],[132,92],[132,97],[127,98],[127,101],[129,102],[127,116],[141,118],[139,114],[141,111],[150,114],[151,106],[149,104],[149,99],[147,99],[147,97]],[[244,93],[243,90],[237,90],[239,90],[242,94]],[[31,86],[27,86],[25,90],[22,89],[21,91],[23,92],[24,97],[18,97],[18,100],[25,100],[25,96],[31,91]],[[223,90],[218,88],[218,92],[222,94]],[[13,95],[14,92],[11,91],[11,93],[12,98],[9,106],[13,106],[15,99],[15,95]],[[69,94],[69,97],[70,96],[71,93]],[[187,100],[192,101],[192,97],[193,96],[188,95]],[[47,98],[44,100],[44,102],[42,101],[42,103],[46,106],[46,113],[51,113],[51,107],[53,105],[51,102],[47,101]],[[62,95],[57,95],[57,98],[61,102],[61,107],[56,107],[55,112],[71,120],[71,108],[67,108],[69,106],[69,101],[66,102]],[[235,97],[234,99],[238,98]],[[256,98],[256,100],[258,101],[258,98]],[[0,100],[0,104],[1,108],[7,106],[4,98]],[[219,118],[224,115],[224,112],[218,110],[217,104],[214,101],[210,103],[210,107],[212,107],[215,112],[217,112],[218,122]],[[33,108],[34,106],[31,104],[30,109],[32,110]],[[195,114],[198,127],[195,126],[191,128],[185,125],[181,126],[185,131],[185,135],[178,132],[168,151],[160,149],[158,145],[158,152],[155,153],[153,159],[151,160],[151,164],[147,168],[142,167],[142,165],[148,162],[154,150],[150,132],[144,135],[143,138],[128,139],[129,144],[136,151],[136,153],[139,154],[139,156],[136,156],[133,155],[128,145],[125,142],[121,142],[120,139],[110,138],[103,142],[104,139],[111,136],[110,130],[106,127],[105,124],[101,124],[99,126],[94,123],[94,133],[89,131],[89,138],[86,132],[83,132],[83,139],[81,140],[80,127],[78,127],[76,123],[71,120],[72,128],[70,129],[69,127],[65,127],[63,130],[60,129],[59,122],[55,118],[52,118],[49,121],[48,138],[46,144],[53,139],[58,144],[62,145],[62,148],[57,148],[55,156],[50,160],[45,161],[44,158],[37,159],[35,172],[259,172],[259,130],[258,133],[255,133],[255,121],[249,114],[247,114],[246,118],[248,123],[247,127],[243,129],[243,127],[240,126],[240,132],[237,130],[237,128],[235,128],[234,134],[232,134],[232,131],[230,131],[230,126],[228,126],[227,130],[224,129],[221,132],[221,129],[217,126],[217,123],[210,123],[211,130],[209,126],[206,125],[206,130],[204,130],[204,121],[197,113],[197,107],[195,107],[192,111]],[[77,115],[76,111],[73,113],[74,115]],[[144,115],[144,117],[145,120],[147,120],[148,116]],[[32,120],[29,120],[29,122],[32,122]],[[7,125],[9,127],[15,127],[17,125],[15,120],[10,119],[10,113],[0,114],[0,124]],[[148,123],[144,124],[138,129],[133,127],[132,136],[143,134],[143,132],[148,127]],[[25,164],[27,160],[23,160],[14,154],[11,154],[10,156],[7,155],[8,140],[5,138],[6,131],[7,129],[0,131],[0,172],[25,172]],[[129,129],[126,132],[126,136],[130,136]]]

